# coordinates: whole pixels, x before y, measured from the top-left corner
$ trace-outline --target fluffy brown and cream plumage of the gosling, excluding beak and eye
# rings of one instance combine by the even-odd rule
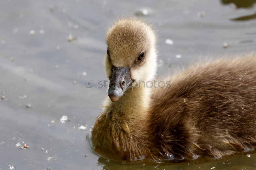
[[[129,67],[133,88],[107,98],[92,131],[95,151],[123,160],[223,156],[256,146],[256,57],[199,63],[171,77],[171,88],[135,87],[156,71],[155,33],[122,19],[107,33],[105,68]],[[137,60],[141,51],[143,61]],[[112,99],[111,99],[112,100]]]

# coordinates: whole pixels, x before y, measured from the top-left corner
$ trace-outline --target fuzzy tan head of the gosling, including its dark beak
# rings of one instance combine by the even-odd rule
[[[134,84],[153,80],[156,38],[147,23],[122,19],[109,28],[106,41],[105,69],[110,79],[108,96],[116,102]]]

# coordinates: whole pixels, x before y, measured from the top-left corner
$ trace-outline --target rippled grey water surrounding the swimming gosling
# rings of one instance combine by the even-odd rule
[[[0,168],[256,169],[253,153],[172,164],[99,158],[86,135],[107,89],[84,86],[105,79],[104,36],[117,16],[153,23],[162,76],[199,59],[255,52],[255,12],[255,0],[0,0]]]

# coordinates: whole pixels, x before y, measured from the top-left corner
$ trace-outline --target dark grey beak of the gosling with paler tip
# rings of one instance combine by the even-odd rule
[[[131,86],[132,79],[129,67],[112,66],[108,96],[112,102],[118,101]]]

